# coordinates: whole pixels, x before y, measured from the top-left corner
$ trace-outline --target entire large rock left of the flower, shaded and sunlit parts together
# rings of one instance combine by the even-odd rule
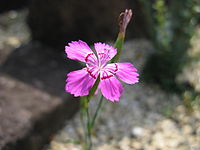
[[[79,65],[62,56],[33,42],[0,65],[1,150],[41,149],[78,111],[64,86],[67,72]]]

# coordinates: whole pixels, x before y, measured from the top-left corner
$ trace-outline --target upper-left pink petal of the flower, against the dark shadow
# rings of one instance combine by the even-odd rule
[[[69,46],[65,46],[65,52],[68,58],[90,64],[97,63],[97,58],[87,43],[79,40],[72,41],[68,45]]]

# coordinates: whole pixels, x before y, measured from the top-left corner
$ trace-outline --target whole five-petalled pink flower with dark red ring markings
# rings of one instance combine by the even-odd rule
[[[81,40],[65,46],[68,58],[86,63],[85,68],[67,75],[65,90],[75,97],[86,96],[100,75],[98,89],[101,90],[103,96],[112,102],[119,101],[123,86],[118,79],[134,84],[138,82],[139,74],[131,63],[107,64],[117,53],[112,46],[95,43],[94,48],[95,52]]]

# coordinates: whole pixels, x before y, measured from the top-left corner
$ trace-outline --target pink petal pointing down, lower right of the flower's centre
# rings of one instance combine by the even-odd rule
[[[113,74],[106,71],[101,75],[99,88],[103,96],[112,102],[119,101],[123,92],[123,86],[119,80]]]

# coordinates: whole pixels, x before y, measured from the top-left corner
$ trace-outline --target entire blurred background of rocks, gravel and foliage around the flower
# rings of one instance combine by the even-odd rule
[[[79,150],[78,99],[64,91],[73,40],[113,45],[133,10],[121,61],[140,83],[104,102],[97,150],[200,150],[199,0],[1,0],[0,150]],[[91,102],[92,111],[98,96]]]

